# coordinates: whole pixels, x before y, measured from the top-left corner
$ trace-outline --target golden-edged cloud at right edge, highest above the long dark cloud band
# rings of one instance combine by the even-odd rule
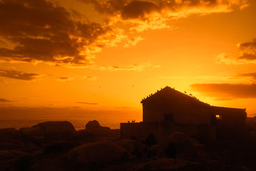
[[[237,48],[238,54],[230,56],[222,53],[217,56],[217,62],[226,64],[256,63],[256,38],[250,42],[237,44]]]

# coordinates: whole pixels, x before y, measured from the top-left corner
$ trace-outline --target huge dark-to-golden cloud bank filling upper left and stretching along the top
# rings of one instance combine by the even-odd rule
[[[103,47],[122,41],[128,47],[141,41],[135,32],[172,28],[169,21],[190,14],[229,12],[234,6],[247,6],[246,0],[80,1],[93,4],[105,20],[98,24],[84,19],[78,11],[59,6],[61,1],[1,0],[0,61],[91,66]]]

